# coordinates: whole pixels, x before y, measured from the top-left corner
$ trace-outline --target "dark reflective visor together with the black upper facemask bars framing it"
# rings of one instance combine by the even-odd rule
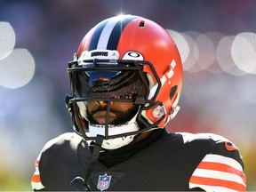
[[[84,60],[82,65],[70,62],[68,73],[71,94],[75,93],[77,99],[142,104],[148,98],[148,79],[143,64],[137,61]]]

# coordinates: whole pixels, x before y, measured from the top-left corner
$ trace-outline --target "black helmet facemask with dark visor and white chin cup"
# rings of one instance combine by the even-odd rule
[[[71,108],[75,130],[85,140],[96,140],[100,134],[105,141],[105,144],[104,141],[102,144],[103,148],[120,148],[130,143],[140,132],[156,127],[156,124],[147,124],[141,116],[145,105],[150,105],[156,98],[155,95],[148,99],[148,78],[143,68],[144,65],[153,71],[154,68],[145,62],[94,59],[83,60],[79,64],[75,60],[68,64],[71,87],[68,106]],[[155,78],[161,84],[159,78]],[[88,102],[105,102],[104,108],[96,109],[106,111],[105,124],[93,121],[88,112]],[[121,120],[110,123],[112,102],[132,102],[133,108]]]

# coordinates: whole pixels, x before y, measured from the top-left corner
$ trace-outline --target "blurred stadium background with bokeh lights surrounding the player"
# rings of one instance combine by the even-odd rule
[[[67,62],[85,33],[120,13],[155,20],[184,63],[179,115],[170,132],[213,132],[244,156],[256,190],[256,1],[0,1],[0,190],[31,190],[47,140],[72,131]]]

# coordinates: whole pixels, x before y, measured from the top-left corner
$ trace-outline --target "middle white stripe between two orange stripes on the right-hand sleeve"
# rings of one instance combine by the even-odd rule
[[[246,186],[244,183],[244,180],[239,175],[228,173],[228,172],[196,169],[196,171],[193,173],[193,176],[212,178],[212,179],[218,179],[218,180],[229,180],[229,181],[234,181],[236,183],[240,183],[244,185],[244,187]]]

